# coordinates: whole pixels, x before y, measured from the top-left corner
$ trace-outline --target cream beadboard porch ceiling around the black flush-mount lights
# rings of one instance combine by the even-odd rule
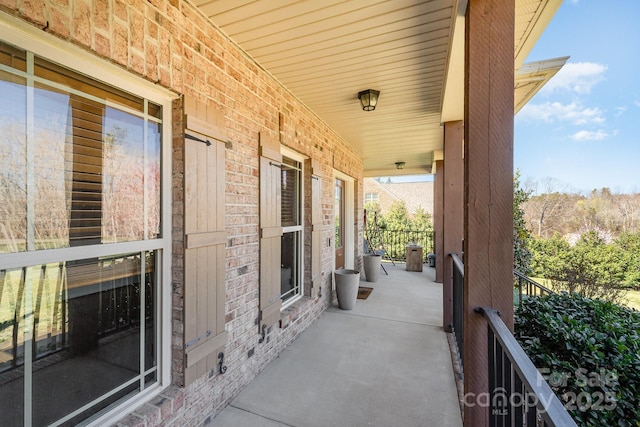
[[[467,0],[193,1],[362,154],[365,176],[430,173],[443,119],[462,119]],[[516,0],[517,67],[560,3]]]

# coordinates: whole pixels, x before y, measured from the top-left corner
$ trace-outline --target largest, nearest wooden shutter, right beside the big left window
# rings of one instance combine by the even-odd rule
[[[217,370],[227,343],[225,144],[214,139],[224,130],[207,123],[203,109],[185,100],[185,385]]]

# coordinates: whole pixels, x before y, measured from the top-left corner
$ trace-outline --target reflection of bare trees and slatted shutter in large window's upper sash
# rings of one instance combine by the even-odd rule
[[[86,80],[37,64],[69,87]],[[150,114],[159,107],[139,100],[142,111],[124,111],[112,100],[131,104],[131,95],[96,97],[105,92],[43,82],[27,90],[0,72],[0,253],[159,236],[162,134]]]

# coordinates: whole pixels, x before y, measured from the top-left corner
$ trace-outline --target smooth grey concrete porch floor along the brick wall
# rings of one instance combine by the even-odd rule
[[[369,298],[337,303],[217,417],[217,427],[459,427],[434,269],[384,264]]]

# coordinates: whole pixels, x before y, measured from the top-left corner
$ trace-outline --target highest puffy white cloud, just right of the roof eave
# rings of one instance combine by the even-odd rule
[[[556,90],[587,94],[591,89],[604,80],[607,66],[593,62],[567,63],[542,88],[546,94]]]

